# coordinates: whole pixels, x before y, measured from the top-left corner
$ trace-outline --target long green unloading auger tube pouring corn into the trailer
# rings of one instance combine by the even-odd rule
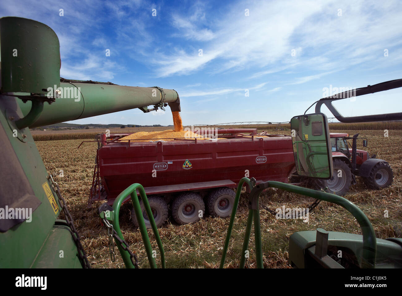
[[[155,105],[163,99],[162,93],[156,87],[64,82],[60,83],[60,87],[62,97],[56,98],[50,105],[45,103],[39,119],[30,128]],[[176,91],[162,91],[164,102],[177,101]],[[18,104],[26,116],[31,110],[31,101],[23,103],[19,100]]]

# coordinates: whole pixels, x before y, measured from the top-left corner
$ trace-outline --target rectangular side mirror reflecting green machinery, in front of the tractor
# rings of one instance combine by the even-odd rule
[[[290,120],[295,165],[299,176],[332,177],[328,121],[323,113],[295,116]]]

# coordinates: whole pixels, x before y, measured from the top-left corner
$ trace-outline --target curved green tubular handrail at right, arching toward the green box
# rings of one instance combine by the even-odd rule
[[[225,245],[223,248],[222,259],[220,263],[220,268],[224,267],[226,253],[229,246],[230,236],[232,235],[232,229],[234,224],[234,216],[236,215],[237,206],[240,198],[240,191],[242,189],[243,183],[247,182],[247,184],[252,188],[252,183],[248,178],[242,178],[238,184],[236,197],[234,201],[234,206],[232,210],[232,215],[230,217],[230,223],[228,227],[228,233],[226,235]],[[251,185],[250,185],[251,184]],[[257,267],[263,268],[263,254],[261,249],[261,230],[260,230],[260,212],[259,212],[259,197],[260,193],[263,192],[264,189],[274,187],[279,188],[282,190],[286,190],[289,192],[305,195],[308,197],[313,197],[315,199],[319,199],[322,201],[328,201],[331,203],[336,203],[341,207],[344,207],[349,211],[359,222],[360,227],[363,233],[363,258],[361,261],[361,267],[369,267],[372,268],[375,266],[375,257],[377,253],[377,243],[375,238],[375,233],[373,226],[371,225],[367,216],[357,207],[354,203],[348,201],[347,199],[340,197],[338,195],[334,195],[331,193],[326,193],[322,191],[317,191],[313,189],[303,188],[291,184],[286,184],[277,181],[268,181],[260,183],[256,186],[253,186],[250,194],[249,194],[249,207],[250,210],[248,212],[248,219],[247,219],[247,226],[246,226],[246,233],[244,235],[244,242],[243,242],[243,249],[242,249],[242,257],[240,259],[240,268],[244,268],[245,264],[245,257],[244,253],[248,248],[248,242],[250,240],[250,231],[251,231],[251,222],[254,216],[254,236],[255,236],[255,243],[256,243],[256,259],[257,259]],[[258,218],[256,217],[258,216]]]

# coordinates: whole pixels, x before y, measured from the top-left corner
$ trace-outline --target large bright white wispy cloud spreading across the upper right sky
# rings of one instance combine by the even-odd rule
[[[249,17],[244,15],[245,8]],[[189,14],[205,17],[199,7],[194,9]],[[318,72],[297,79],[301,84],[321,77],[323,71],[373,60],[375,50],[399,40],[400,13],[397,1],[386,5],[374,1],[240,1],[219,19],[195,23],[188,14],[175,13],[172,26],[185,39],[204,41],[199,43],[203,57],[195,47],[176,46],[174,51],[153,52],[156,56],[151,62],[158,66],[155,73],[159,77],[189,75],[208,64],[210,74],[256,69],[248,79],[288,68]],[[291,56],[292,50],[295,56]]]

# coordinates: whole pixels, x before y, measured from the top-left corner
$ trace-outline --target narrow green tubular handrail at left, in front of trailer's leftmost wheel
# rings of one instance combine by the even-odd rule
[[[160,239],[158,228],[156,227],[154,215],[152,214],[152,210],[150,207],[150,204],[148,202],[147,195],[145,193],[144,187],[139,184],[139,183],[134,183],[128,186],[125,190],[123,190],[122,193],[120,193],[117,198],[115,199],[113,203],[113,210],[114,210],[114,217],[113,217],[113,228],[116,230],[117,234],[121,239],[123,238],[123,234],[121,233],[120,230],[120,225],[119,225],[119,211],[120,211],[120,206],[123,203],[123,201],[126,199],[128,195],[131,196],[131,202],[133,203],[134,211],[135,211],[135,216],[137,217],[138,225],[139,225],[139,231],[141,232],[142,240],[144,241],[144,246],[145,250],[147,253],[148,261],[150,263],[151,268],[156,268],[156,262],[155,258],[152,256],[152,246],[150,243],[150,239],[148,237],[148,232],[147,228],[145,226],[144,222],[144,217],[142,215],[141,207],[139,205],[139,200],[137,197],[137,189],[139,191],[139,195],[141,196],[141,200],[144,203],[144,208],[146,210],[146,213],[148,215],[148,219],[151,223],[152,230],[154,232],[156,242],[158,243],[158,248],[160,252],[160,262],[162,264],[162,268],[166,267],[165,264],[165,252],[162,246],[162,240]],[[127,268],[135,268],[133,263],[131,262],[130,255],[127,251],[123,250],[119,244],[117,244],[117,247],[119,248],[121,257],[123,258],[124,264]]]

